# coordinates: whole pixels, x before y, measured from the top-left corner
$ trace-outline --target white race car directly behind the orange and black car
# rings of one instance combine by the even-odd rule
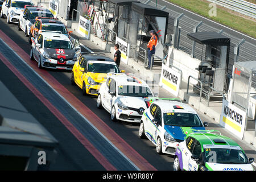
[[[30,28],[38,16],[53,18],[53,14],[48,9],[38,6],[26,6],[22,14],[19,15],[18,30],[24,31],[26,36],[30,35]]]

